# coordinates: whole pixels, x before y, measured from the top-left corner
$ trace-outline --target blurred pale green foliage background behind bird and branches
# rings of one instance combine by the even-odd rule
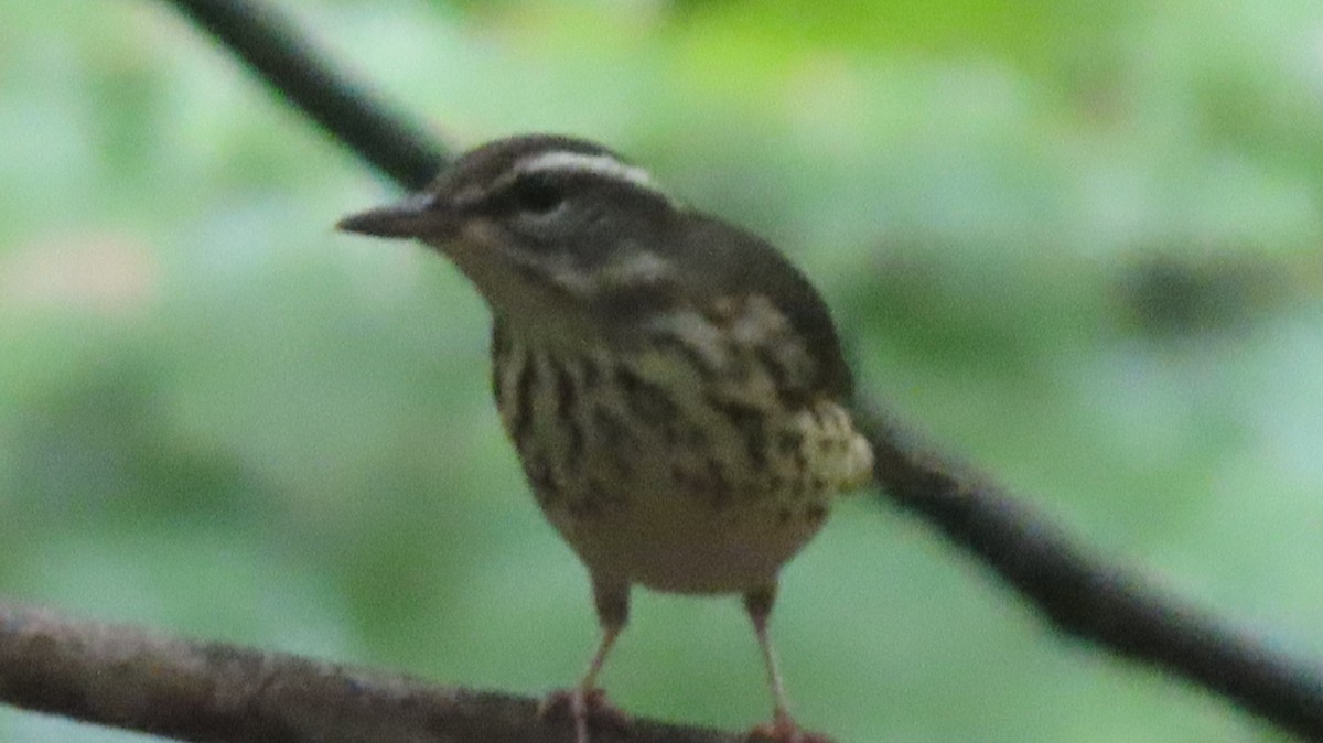
[[[1315,0],[284,3],[456,144],[566,131],[755,226],[861,385],[1101,553],[1323,656]],[[165,3],[0,7],[0,596],[540,693],[587,588],[388,189]],[[843,505],[786,572],[841,740],[1277,740]],[[767,707],[737,602],[639,595],[639,714]],[[135,736],[0,711],[0,740]]]

